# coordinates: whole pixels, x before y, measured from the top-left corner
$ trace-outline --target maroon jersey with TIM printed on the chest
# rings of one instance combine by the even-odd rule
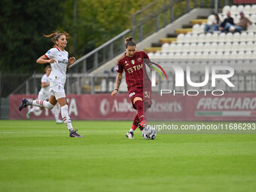
[[[122,73],[123,69],[126,77],[127,89],[131,87],[143,88],[151,87],[144,60],[150,61],[148,54],[142,50],[136,50],[133,57],[126,56],[124,53],[117,61],[117,72]]]

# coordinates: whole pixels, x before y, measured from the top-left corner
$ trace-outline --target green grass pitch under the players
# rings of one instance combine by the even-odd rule
[[[126,139],[127,121],[0,120],[0,191],[254,191],[256,135]]]

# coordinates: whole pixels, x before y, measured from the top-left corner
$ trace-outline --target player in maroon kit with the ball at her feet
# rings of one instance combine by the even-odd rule
[[[126,137],[133,139],[133,132],[139,126],[140,130],[147,125],[145,111],[151,107],[151,81],[146,73],[145,62],[149,62],[148,54],[142,50],[136,50],[136,42],[133,38],[125,40],[126,53],[117,61],[117,79],[114,91],[111,96],[115,96],[120,87],[123,70],[125,72],[128,93],[138,113],[133,120],[133,125]]]

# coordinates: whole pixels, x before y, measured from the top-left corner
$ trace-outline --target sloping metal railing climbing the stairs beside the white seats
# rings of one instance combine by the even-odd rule
[[[229,5],[230,0],[219,0],[219,8]],[[105,44],[82,56],[72,66],[74,73],[89,73],[114,56],[124,51],[123,42],[132,35],[136,42],[142,41],[154,32],[159,31],[178,17],[186,14],[193,8],[214,8],[215,0],[157,0],[133,14],[132,27],[121,32]]]

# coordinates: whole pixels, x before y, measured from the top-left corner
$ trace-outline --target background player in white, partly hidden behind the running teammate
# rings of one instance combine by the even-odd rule
[[[38,93],[38,99],[44,99],[48,101],[50,97],[50,66],[46,66],[44,71],[46,73],[41,78],[41,90]],[[41,111],[42,109],[43,108],[33,106],[26,112],[26,117],[29,119],[31,113],[36,113],[38,111]],[[53,113],[53,116],[55,117],[56,123],[63,123],[63,120],[59,120],[59,108],[57,104],[51,109],[51,111]]]

